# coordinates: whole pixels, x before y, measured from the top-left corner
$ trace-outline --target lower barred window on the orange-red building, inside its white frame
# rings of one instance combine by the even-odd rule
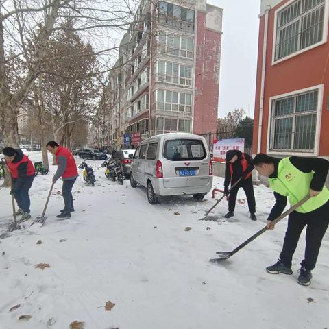
[[[270,151],[314,151],[318,95],[315,89],[272,101]]]

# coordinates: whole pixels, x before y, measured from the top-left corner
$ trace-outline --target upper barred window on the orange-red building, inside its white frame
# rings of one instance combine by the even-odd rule
[[[324,0],[296,0],[278,12],[274,60],[323,40],[324,5]]]

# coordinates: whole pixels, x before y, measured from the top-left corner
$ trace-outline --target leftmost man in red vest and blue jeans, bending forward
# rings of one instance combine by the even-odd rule
[[[21,221],[27,221],[31,218],[31,215],[29,215],[31,205],[29,189],[34,180],[33,163],[23,154],[21,149],[5,147],[3,155],[5,156],[5,164],[7,164],[12,176],[12,191],[10,191],[10,194],[14,195],[19,206],[16,215],[22,215]]]

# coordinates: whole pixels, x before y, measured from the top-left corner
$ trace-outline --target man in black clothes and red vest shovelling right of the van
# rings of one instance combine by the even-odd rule
[[[238,194],[239,188],[242,187],[247,196],[250,218],[253,221],[257,220],[255,215],[256,202],[254,185],[252,184],[252,169],[254,169],[254,166],[252,165],[252,157],[249,156],[249,154],[234,149],[226,153],[224,193],[228,195],[228,186],[230,182],[232,186],[239,178],[242,177],[242,180],[230,191],[230,197],[228,197],[228,213],[225,215],[225,218],[234,216],[236,195]]]

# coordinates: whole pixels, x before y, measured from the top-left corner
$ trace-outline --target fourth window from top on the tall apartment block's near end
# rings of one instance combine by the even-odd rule
[[[156,110],[191,113],[192,94],[158,89],[154,91]]]

